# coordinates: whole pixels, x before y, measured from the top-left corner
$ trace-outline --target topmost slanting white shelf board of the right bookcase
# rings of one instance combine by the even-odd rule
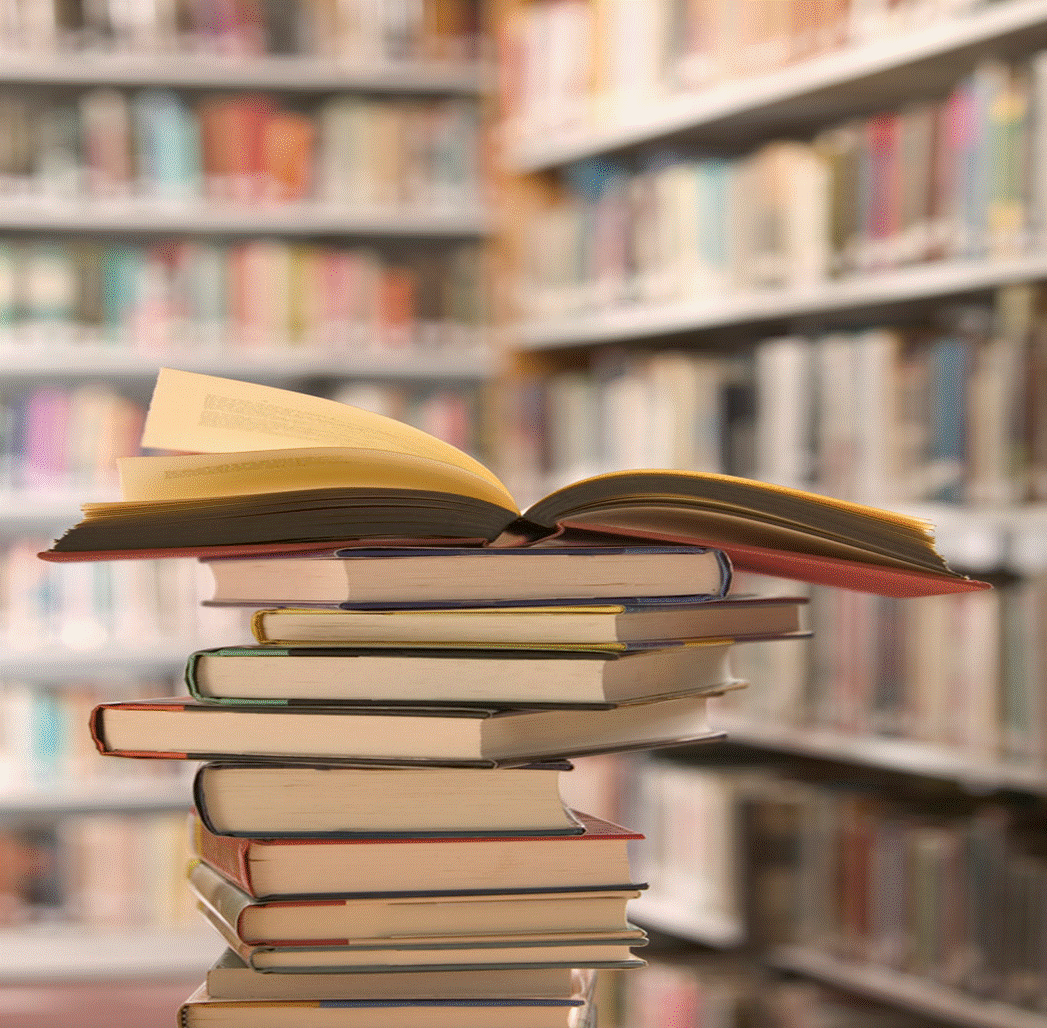
[[[669,94],[638,106],[628,120],[540,133],[520,127],[507,139],[507,164],[528,174],[681,135],[736,144],[761,132],[828,125],[906,102],[917,90],[933,95],[984,58],[1042,47],[1045,26],[1042,0],[985,4],[762,75]]]

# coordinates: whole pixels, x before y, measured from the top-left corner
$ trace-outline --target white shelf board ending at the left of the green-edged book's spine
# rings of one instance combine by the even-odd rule
[[[62,646],[18,650],[8,644],[0,653],[0,680],[28,679],[75,687],[85,678],[110,680],[150,673],[175,674],[185,667],[186,654],[202,645],[172,639],[159,645],[143,645],[140,649],[104,644],[90,650]]]

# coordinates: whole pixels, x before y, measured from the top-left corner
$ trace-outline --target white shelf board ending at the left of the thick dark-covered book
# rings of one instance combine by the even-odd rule
[[[190,786],[185,782],[103,778],[79,785],[38,785],[0,791],[0,823],[41,814],[64,818],[88,813],[177,813],[187,812],[190,806]]]

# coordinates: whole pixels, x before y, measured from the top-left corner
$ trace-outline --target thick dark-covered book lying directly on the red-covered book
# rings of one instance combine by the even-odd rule
[[[566,761],[513,768],[203,764],[193,799],[219,835],[577,834]]]

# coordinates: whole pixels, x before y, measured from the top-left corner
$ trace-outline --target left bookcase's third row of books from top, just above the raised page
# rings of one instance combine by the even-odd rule
[[[462,352],[480,345],[483,275],[471,247],[4,239],[0,339],[149,353]]]

